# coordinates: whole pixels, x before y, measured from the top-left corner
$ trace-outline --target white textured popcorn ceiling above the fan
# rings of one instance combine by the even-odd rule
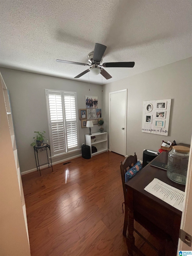
[[[110,83],[192,56],[191,0],[2,0],[0,66],[74,79],[95,43],[103,62],[135,61],[134,68],[105,68]]]

